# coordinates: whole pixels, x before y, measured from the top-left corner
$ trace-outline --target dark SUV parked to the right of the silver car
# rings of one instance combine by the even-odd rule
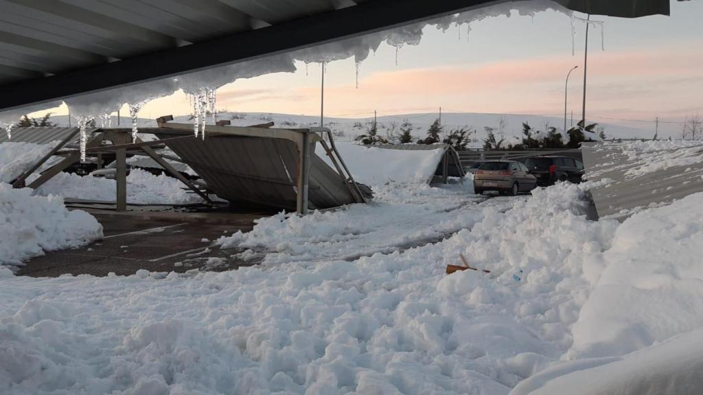
[[[580,183],[583,178],[583,162],[573,157],[538,156],[524,158],[520,162],[537,177],[538,186],[554,185],[557,181]]]

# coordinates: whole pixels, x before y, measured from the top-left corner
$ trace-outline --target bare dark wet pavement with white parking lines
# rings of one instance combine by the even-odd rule
[[[90,211],[90,210],[89,210]],[[56,277],[108,273],[127,276],[139,269],[159,272],[229,270],[251,266],[212,243],[222,235],[250,231],[254,219],[270,213],[236,212],[105,212],[91,214],[103,225],[103,240],[72,250],[47,252],[25,262],[19,276]]]

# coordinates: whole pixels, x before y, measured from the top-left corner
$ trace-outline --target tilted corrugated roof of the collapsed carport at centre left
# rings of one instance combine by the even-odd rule
[[[168,131],[159,138],[181,136]],[[233,202],[254,202],[296,209],[297,160],[295,143],[281,138],[210,136],[167,141],[217,196]],[[309,208],[321,209],[354,203],[354,196],[339,175],[313,153]]]

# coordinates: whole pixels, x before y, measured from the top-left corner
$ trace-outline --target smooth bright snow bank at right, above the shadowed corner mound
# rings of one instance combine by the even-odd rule
[[[624,221],[603,260],[584,268],[595,289],[569,358],[619,356],[702,328],[702,254],[703,193]]]

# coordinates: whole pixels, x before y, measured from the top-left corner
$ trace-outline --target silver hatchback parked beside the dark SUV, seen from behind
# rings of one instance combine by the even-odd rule
[[[484,162],[474,173],[474,191],[479,195],[486,190],[517,195],[529,192],[536,186],[536,177],[524,164],[515,160]]]

